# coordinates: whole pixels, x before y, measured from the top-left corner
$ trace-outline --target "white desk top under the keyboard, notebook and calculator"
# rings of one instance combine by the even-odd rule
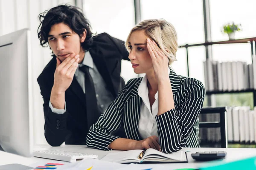
[[[47,148],[48,150],[67,150],[67,151],[73,151],[73,152],[79,152],[79,153],[96,154],[99,156],[98,157],[99,159],[101,159],[103,156],[105,156],[107,153],[110,153],[110,152],[122,152],[119,150],[111,150],[111,151],[96,150],[96,149],[87,148],[84,145],[62,145],[60,147],[50,147],[50,146],[41,146],[41,147]],[[191,166],[199,167],[200,165],[204,164],[204,162],[197,162],[194,159],[192,159],[191,153],[195,153],[195,152],[226,151],[227,157],[223,161],[227,161],[227,162],[256,156],[255,148],[241,148],[241,149],[238,148],[237,149],[237,148],[188,148],[188,147],[186,147],[186,148],[183,148],[182,150],[189,151],[189,152],[187,152],[187,157],[188,157],[189,163],[177,163],[177,164],[172,164],[172,166],[179,167],[179,168],[191,167]],[[29,165],[29,164],[33,164],[37,161],[42,161],[42,160],[46,160],[46,159],[36,158],[36,157],[25,158],[22,156],[17,156],[14,154],[5,153],[3,151],[0,151],[0,165],[13,164],[13,163]],[[163,164],[161,164],[161,165],[163,165]],[[168,165],[168,164],[165,164],[165,165]]]

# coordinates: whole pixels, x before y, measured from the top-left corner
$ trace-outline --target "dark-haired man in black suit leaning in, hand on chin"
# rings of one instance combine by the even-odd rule
[[[81,9],[60,5],[39,15],[38,38],[52,60],[38,77],[44,135],[52,146],[86,144],[87,132],[122,89],[124,42],[94,35]]]

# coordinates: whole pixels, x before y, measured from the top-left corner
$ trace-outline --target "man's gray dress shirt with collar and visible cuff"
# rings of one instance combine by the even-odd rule
[[[82,72],[79,68],[82,67],[83,65],[87,65],[89,67],[89,73],[93,79],[93,84],[95,88],[95,93],[96,93],[96,98],[97,98],[97,104],[99,111],[102,113],[106,110],[108,105],[115,99],[111,92],[107,89],[107,85],[102,78],[102,76],[99,74],[99,71],[96,67],[96,65],[93,63],[93,58],[90,55],[90,52],[87,51],[84,54],[84,60],[81,64],[79,64],[79,67],[76,69],[75,72],[75,77],[81,86],[81,88],[84,91],[84,94],[86,93],[86,89],[84,86],[84,72]],[[53,113],[57,114],[63,114],[66,111],[66,102],[65,102],[65,109],[56,109],[53,108],[52,103],[49,102],[49,107],[51,108]]]

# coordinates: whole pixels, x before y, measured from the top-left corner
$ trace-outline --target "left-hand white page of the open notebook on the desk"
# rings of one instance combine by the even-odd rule
[[[138,157],[142,151],[143,150],[128,150],[128,151],[120,151],[115,153],[108,153],[101,160],[119,162],[119,163],[130,163],[130,162],[139,163],[140,159]]]

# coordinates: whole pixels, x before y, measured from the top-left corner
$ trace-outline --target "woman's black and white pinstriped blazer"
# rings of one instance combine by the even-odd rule
[[[159,144],[163,153],[174,153],[183,147],[199,147],[198,115],[203,107],[204,85],[194,78],[169,74],[175,109],[156,116]],[[142,140],[138,131],[142,99],[138,95],[141,78],[131,79],[90,127],[87,147],[109,150],[108,145],[120,138],[114,135],[124,128],[127,139]]]

